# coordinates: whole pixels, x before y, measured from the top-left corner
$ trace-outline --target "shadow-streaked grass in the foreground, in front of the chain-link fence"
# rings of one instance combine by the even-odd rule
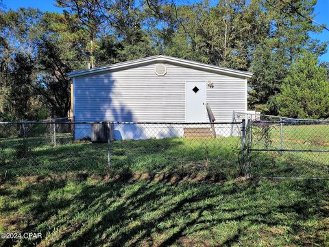
[[[22,246],[328,244],[328,183],[123,183],[51,178],[5,185],[3,231]],[[16,220],[12,220],[16,219]]]

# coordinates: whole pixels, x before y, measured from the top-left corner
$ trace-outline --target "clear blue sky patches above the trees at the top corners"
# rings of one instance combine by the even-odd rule
[[[1,0],[0,0],[1,1]],[[41,11],[53,11],[61,12],[60,8],[54,6],[53,0],[2,0],[3,4],[7,7],[16,10],[19,7],[33,7],[38,8]],[[329,27],[329,1],[318,0],[315,5],[315,21],[326,24]],[[321,41],[329,42],[329,31],[324,30],[321,34],[311,34],[313,38],[317,38]],[[329,51],[320,58],[323,61],[329,62]]]

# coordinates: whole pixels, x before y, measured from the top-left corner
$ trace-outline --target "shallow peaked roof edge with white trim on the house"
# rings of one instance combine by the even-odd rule
[[[219,67],[219,66],[215,66],[215,65],[204,64],[202,62],[193,62],[190,60],[173,58],[171,56],[163,56],[163,55],[150,56],[147,58],[141,58],[141,59],[131,60],[131,61],[127,61],[127,62],[119,62],[117,64],[110,64],[108,66],[98,67],[95,69],[72,71],[72,72],[68,73],[68,75],[69,75],[69,77],[74,78],[74,77],[82,76],[82,75],[91,75],[93,73],[108,72],[108,71],[117,70],[117,69],[127,69],[128,67],[134,67],[137,65],[148,64],[148,63],[152,63],[152,62],[167,62],[169,64],[177,64],[177,65],[181,65],[184,67],[191,67],[193,69],[203,69],[203,70],[211,71],[214,73],[225,73],[228,75],[236,75],[236,76],[240,76],[240,77],[244,77],[244,78],[252,77],[252,73],[247,72],[247,71],[228,69],[228,68]]]

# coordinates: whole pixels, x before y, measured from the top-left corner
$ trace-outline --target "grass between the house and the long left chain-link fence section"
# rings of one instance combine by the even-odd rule
[[[50,137],[0,140],[0,176],[47,175],[65,172],[110,173],[132,176],[136,172],[158,172],[239,176],[237,137],[218,139],[148,139],[113,141],[108,165],[107,143],[72,142],[58,137],[58,145],[49,145]],[[64,141],[63,141],[64,140]],[[65,141],[66,140],[66,141]],[[1,156],[2,150],[2,156]],[[2,157],[2,158],[1,158]]]

